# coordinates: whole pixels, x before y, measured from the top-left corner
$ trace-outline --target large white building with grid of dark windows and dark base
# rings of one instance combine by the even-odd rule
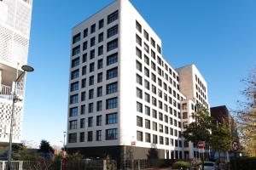
[[[183,94],[186,74],[167,63],[161,44],[128,0],[73,27],[68,150],[124,159],[154,157],[155,150],[160,158],[196,156],[181,138],[188,122],[183,104],[195,111],[196,100],[187,98],[189,90]],[[203,80],[195,65],[189,67]]]

